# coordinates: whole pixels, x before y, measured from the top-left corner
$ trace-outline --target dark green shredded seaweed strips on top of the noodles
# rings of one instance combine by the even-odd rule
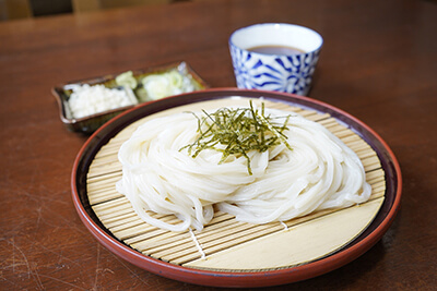
[[[224,162],[231,155],[244,156],[247,159],[247,170],[252,174],[248,151],[263,153],[281,143],[292,150],[286,142],[287,136],[283,134],[288,129],[286,125],[291,116],[287,116],[282,124],[276,124],[274,118],[265,116],[263,102],[260,110],[255,109],[250,101],[249,108],[221,108],[213,113],[204,110],[202,112],[201,117],[191,112],[198,120],[199,137],[194,143],[181,148],[188,148],[192,158],[206,148],[223,153],[218,163]]]

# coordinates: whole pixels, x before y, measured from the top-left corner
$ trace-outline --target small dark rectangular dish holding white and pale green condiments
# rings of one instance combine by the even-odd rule
[[[57,85],[52,94],[69,131],[91,134],[106,121],[142,102],[208,88],[186,63],[108,74]]]

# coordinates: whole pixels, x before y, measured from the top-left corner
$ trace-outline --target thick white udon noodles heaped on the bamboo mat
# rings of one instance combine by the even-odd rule
[[[214,207],[249,223],[286,221],[315,210],[366,202],[371,187],[364,167],[343,142],[317,122],[288,111],[284,144],[247,158],[204,149],[193,158],[186,147],[198,137],[198,120],[190,113],[156,118],[140,125],[120,147],[122,178],[117,191],[126,195],[147,223],[170,231],[201,230]],[[201,113],[199,113],[201,114]],[[150,211],[175,215],[177,223]]]

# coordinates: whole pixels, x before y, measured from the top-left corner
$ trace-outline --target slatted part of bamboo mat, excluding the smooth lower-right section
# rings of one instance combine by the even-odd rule
[[[380,161],[371,147],[352,130],[341,125],[328,113],[320,114],[312,110],[275,102],[265,102],[265,106],[297,112],[326,126],[362,160],[366,180],[373,187],[369,201],[383,198],[386,181]],[[268,225],[239,222],[228,214],[216,211],[212,221],[201,232],[170,232],[150,226],[137,216],[130,202],[115,190],[115,183],[121,179],[122,174],[117,157],[118,149],[141,122],[140,120],[130,124],[104,145],[96,154],[87,173],[87,195],[94,213],[117,239],[139,252],[172,264],[184,265],[202,256],[208,257],[216,252],[336,211],[322,210],[290,221]],[[151,215],[167,222],[177,222],[174,216],[160,216],[152,213]]]

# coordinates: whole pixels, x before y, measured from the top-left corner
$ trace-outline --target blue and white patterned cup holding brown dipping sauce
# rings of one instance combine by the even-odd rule
[[[322,44],[318,33],[295,24],[239,28],[229,37],[237,86],[307,95]]]

